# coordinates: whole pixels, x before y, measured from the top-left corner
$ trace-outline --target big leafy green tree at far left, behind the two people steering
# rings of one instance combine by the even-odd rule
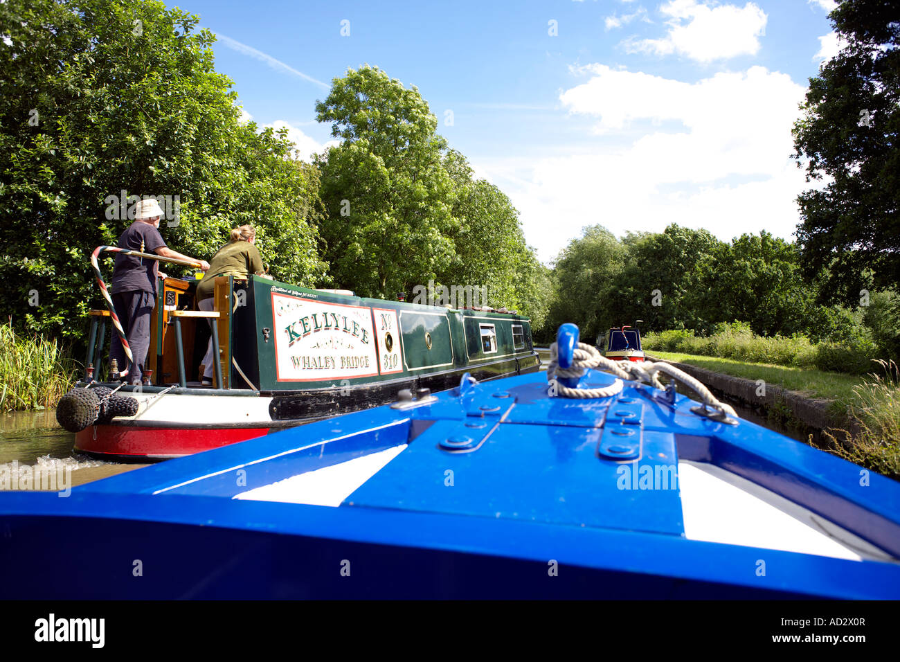
[[[214,35],[197,21],[154,0],[0,5],[4,317],[83,332],[101,304],[87,257],[130,223],[110,198],[122,190],[178,196],[178,217],[161,223],[176,249],[209,257],[229,228],[253,222],[276,275],[311,283],[324,271],[304,216],[317,177],[289,158],[284,133],[238,122]]]

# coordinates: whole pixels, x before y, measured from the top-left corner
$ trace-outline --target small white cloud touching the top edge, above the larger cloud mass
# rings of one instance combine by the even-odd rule
[[[671,0],[660,7],[669,16],[669,32],[661,39],[626,40],[628,52],[677,53],[698,62],[755,55],[769,17],[753,3],[707,5],[697,0]]]

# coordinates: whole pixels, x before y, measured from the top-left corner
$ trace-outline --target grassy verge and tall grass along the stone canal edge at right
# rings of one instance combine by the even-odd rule
[[[724,375],[753,381],[762,379],[766,384],[830,400],[835,416],[855,422],[860,432],[852,435],[841,428],[823,431],[824,437],[832,442],[826,450],[900,480],[900,373],[893,361],[874,363],[873,368],[880,374],[858,376],[815,367],[777,366],[680,352],[653,351],[648,354]]]

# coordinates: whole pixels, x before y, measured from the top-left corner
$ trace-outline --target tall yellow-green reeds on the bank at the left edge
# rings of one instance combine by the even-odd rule
[[[55,407],[78,367],[56,340],[0,325],[0,411]]]

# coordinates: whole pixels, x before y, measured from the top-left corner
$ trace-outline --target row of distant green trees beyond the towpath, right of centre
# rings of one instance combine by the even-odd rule
[[[556,260],[542,338],[553,341],[563,322],[577,323],[590,342],[610,326],[636,320],[650,331],[701,334],[739,321],[766,336],[803,333],[847,342],[871,335],[883,348],[896,347],[893,294],[873,294],[870,308],[817,304],[817,284],[802,277],[801,263],[797,244],[766,231],[725,243],[672,224],[617,240],[592,226]],[[879,316],[884,319],[876,323]]]

